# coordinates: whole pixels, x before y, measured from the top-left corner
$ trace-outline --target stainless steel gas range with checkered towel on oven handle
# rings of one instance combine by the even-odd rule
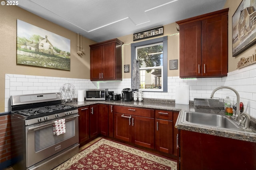
[[[78,108],[61,104],[60,93],[10,100],[14,169],[50,170],[79,152]]]

